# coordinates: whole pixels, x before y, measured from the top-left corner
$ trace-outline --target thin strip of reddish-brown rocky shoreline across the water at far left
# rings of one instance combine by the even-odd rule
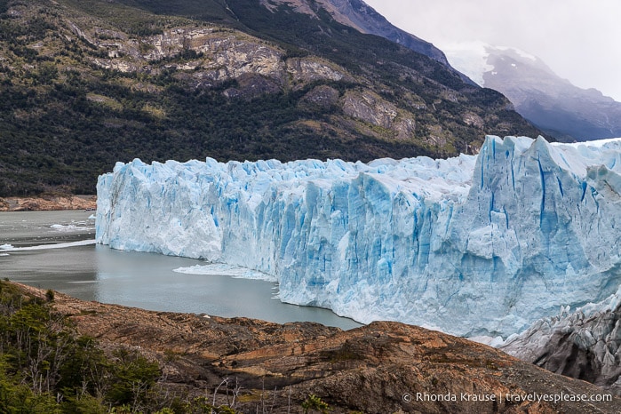
[[[51,194],[0,198],[0,211],[96,210],[96,195]]]

